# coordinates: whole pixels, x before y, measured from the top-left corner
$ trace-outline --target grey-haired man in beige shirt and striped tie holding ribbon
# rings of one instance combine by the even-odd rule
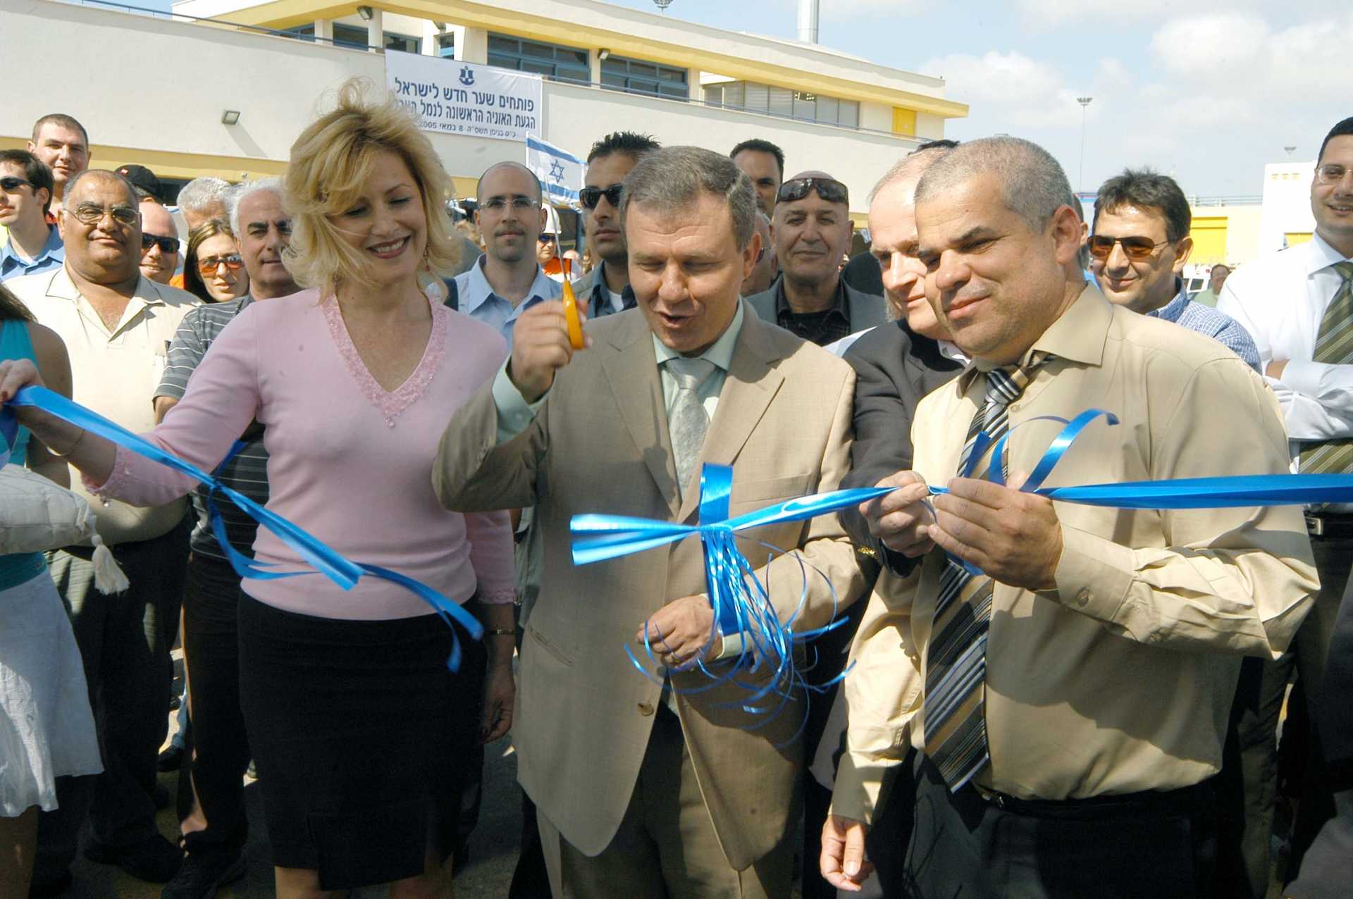
[[[970,423],[1019,429],[1019,484],[1061,427],[1038,419],[1086,408],[1122,423],[1088,427],[1049,485],[1287,472],[1254,372],[1084,283],[1068,196],[1055,160],[1013,138],[959,146],[917,187],[927,297],[974,362],[921,400],[915,470],[862,510],[923,562],[879,579],[847,679],[823,853],[846,890],[911,742],[919,895],[1211,895],[1208,781],[1241,657],[1281,653],[1318,588],[1299,508],[1096,508],[954,477]],[[934,512],[925,484],[950,488]]]

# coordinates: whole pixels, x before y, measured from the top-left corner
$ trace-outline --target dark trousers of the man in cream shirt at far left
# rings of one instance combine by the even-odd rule
[[[104,771],[57,780],[60,807],[38,817],[34,883],[66,872],[85,815],[93,838],[107,845],[130,845],[158,833],[156,756],[169,730],[169,649],[179,627],[188,526],[115,546],[131,587],[114,596],[93,588],[89,550],[74,553],[53,553],[49,564],[80,646]]]

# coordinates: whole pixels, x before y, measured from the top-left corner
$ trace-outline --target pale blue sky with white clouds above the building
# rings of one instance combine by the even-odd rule
[[[610,1],[656,12],[652,0]],[[796,0],[672,0],[664,15],[797,37]],[[1314,160],[1353,115],[1349,0],[821,0],[819,39],[943,77],[969,105],[946,137],[1035,141],[1074,189],[1147,165],[1189,196],[1257,196],[1264,164]],[[1077,96],[1092,97],[1084,158]]]

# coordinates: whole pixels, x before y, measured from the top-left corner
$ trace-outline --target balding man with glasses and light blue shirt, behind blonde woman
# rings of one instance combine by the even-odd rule
[[[517,316],[563,288],[540,268],[536,246],[545,227],[540,180],[520,162],[484,169],[475,189],[475,224],[484,235],[484,254],[456,276],[457,308],[498,329],[511,346]]]

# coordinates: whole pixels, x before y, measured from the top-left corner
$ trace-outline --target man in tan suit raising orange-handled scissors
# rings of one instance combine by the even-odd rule
[[[534,506],[545,535],[526,621],[515,742],[557,896],[787,896],[804,698],[748,712],[728,669],[697,539],[576,568],[579,512],[695,522],[700,464],[733,466],[731,514],[835,489],[848,466],[854,374],[739,299],[759,241],[751,183],[727,158],[674,147],[625,180],[639,308],[587,326],[574,353],[560,303],[517,322],[513,354],[452,419],[433,481],[448,508]],[[824,625],[862,588],[835,518],[755,541],[798,550],[762,568],[782,619]],[[835,599],[828,587],[835,587]],[[800,608],[800,603],[802,607]],[[664,668],[625,654],[644,629]],[[764,683],[766,665],[739,675]],[[668,689],[670,684],[670,689]],[[774,706],[775,696],[760,700]]]

